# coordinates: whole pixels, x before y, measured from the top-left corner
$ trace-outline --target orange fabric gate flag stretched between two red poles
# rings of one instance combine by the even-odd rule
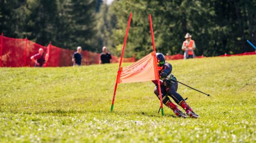
[[[157,80],[159,77],[154,55],[155,52],[151,52],[128,67],[120,67],[117,83]]]

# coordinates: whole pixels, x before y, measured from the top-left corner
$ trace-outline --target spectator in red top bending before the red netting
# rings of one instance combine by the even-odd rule
[[[48,57],[49,57],[48,53],[45,55],[44,49],[40,48],[38,50],[38,53],[35,55],[32,55],[30,59],[32,60],[32,62],[35,63],[35,67],[42,67],[44,66],[45,62],[47,63]]]

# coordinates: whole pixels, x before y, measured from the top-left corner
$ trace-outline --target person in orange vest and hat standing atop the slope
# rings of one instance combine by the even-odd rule
[[[196,48],[196,44],[194,40],[191,40],[191,35],[187,33],[185,35],[185,41],[182,44],[182,50],[184,51],[184,59],[195,58],[194,50]]]

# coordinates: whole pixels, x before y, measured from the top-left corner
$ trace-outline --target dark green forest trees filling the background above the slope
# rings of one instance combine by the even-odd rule
[[[106,5],[100,0],[0,1],[0,32],[46,45],[100,52],[106,45],[120,55],[129,13],[133,12],[126,56],[150,52],[152,42],[148,14],[152,14],[159,52],[182,53],[184,35],[196,41],[196,54],[253,51],[256,44],[256,2],[119,0]]]

